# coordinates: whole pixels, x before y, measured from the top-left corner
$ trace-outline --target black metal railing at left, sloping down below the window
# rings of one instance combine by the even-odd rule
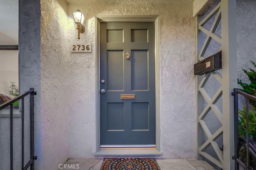
[[[30,96],[30,160],[24,166],[24,98],[28,95]],[[10,106],[10,170],[13,170],[13,103],[18,100],[21,100],[22,170],[27,170],[29,167],[30,170],[34,170],[34,160],[36,159],[36,156],[34,156],[34,95],[36,95],[34,88],[30,88],[30,90],[28,90],[27,92],[0,105],[0,110]]]

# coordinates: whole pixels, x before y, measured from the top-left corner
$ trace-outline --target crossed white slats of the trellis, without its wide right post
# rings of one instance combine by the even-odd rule
[[[222,45],[222,37],[215,34],[215,31],[221,21],[221,8],[220,7],[221,7],[221,3],[219,3],[205,18],[203,18],[203,16],[197,17],[198,22],[199,22],[197,24],[197,27],[198,27],[197,38],[198,39],[201,38],[201,40],[204,39],[202,33],[204,33],[207,36],[203,44],[200,44],[197,39],[197,45],[198,45],[197,46],[198,47],[197,48],[197,61],[201,61],[204,59],[203,56],[206,53],[206,50],[209,47],[209,44],[212,41],[212,39],[214,39],[220,45]],[[212,22],[210,30],[208,30],[204,27],[204,25],[209,20],[214,20]],[[221,47],[220,47],[220,49],[221,49]],[[220,50],[220,49],[218,49],[218,50]],[[212,98],[208,95],[208,93],[206,92],[206,90],[204,88],[204,86],[205,86],[206,82],[209,80],[211,74],[221,84],[221,86],[218,88],[217,92],[215,93],[215,95]],[[210,160],[211,162],[213,162],[214,164],[216,164],[218,167],[223,168],[223,164],[224,164],[223,157],[224,156],[223,156],[222,150],[220,149],[217,142],[215,141],[223,134],[223,117],[222,117],[223,114],[222,114],[222,111],[220,111],[220,109],[216,105],[216,102],[222,96],[222,75],[220,74],[220,72],[214,71],[214,72],[205,74],[203,78],[202,78],[202,76],[200,76],[200,78],[197,77],[197,80],[198,80],[197,81],[197,83],[198,83],[197,84],[198,106],[200,104],[203,105],[202,103],[204,100],[207,102],[207,106],[205,108],[203,108],[202,106],[199,106],[197,108],[197,120],[198,120],[198,126],[200,126],[200,127],[198,127],[198,129],[201,129],[201,134],[198,134],[197,136],[203,136],[202,132],[204,132],[208,138],[208,140],[206,140],[205,142],[202,142],[202,137],[201,137],[201,139],[198,139],[198,140],[201,140],[200,142],[198,142],[198,153],[200,155],[204,156],[205,158],[207,158],[208,160]],[[199,101],[199,100],[201,100],[201,101]],[[214,112],[214,114],[216,115],[216,117],[218,118],[220,123],[222,124],[222,126],[219,127],[218,130],[214,134],[211,133],[206,122],[204,121],[204,118],[206,117],[206,115],[209,113],[210,110],[212,110]],[[216,158],[214,158],[214,156],[208,154],[207,152],[204,152],[204,150],[207,147],[209,147],[210,145],[212,145],[212,148],[214,149],[214,152],[216,152],[216,155],[218,156],[219,160],[217,160]]]

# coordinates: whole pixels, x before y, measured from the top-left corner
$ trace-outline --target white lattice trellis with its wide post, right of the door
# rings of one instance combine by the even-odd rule
[[[231,92],[237,88],[236,1],[220,0],[207,16],[197,15],[196,18],[196,61],[212,55],[213,45],[222,51],[221,73],[214,71],[196,76],[196,158],[207,158],[223,170],[232,170],[234,101]],[[212,82],[211,78],[216,80]],[[213,125],[207,122],[211,114],[216,117],[214,122],[210,122]],[[220,149],[222,146],[218,145],[220,140],[223,151]]]

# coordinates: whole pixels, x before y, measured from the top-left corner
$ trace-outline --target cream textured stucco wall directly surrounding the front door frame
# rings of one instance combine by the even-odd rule
[[[69,42],[92,43],[92,53],[71,54],[70,157],[92,158],[96,151],[95,16],[159,15],[161,78],[161,152],[158,158],[195,157],[195,18],[187,0],[97,0],[69,5],[68,14],[80,9],[86,31],[78,41],[70,19]],[[89,64],[90,68],[87,68]]]

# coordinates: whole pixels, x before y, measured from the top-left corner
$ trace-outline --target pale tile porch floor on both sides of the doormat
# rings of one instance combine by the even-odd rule
[[[215,170],[210,164],[196,159],[157,159],[161,170]],[[65,164],[74,165],[68,170],[100,170],[103,159],[69,159]],[[78,166],[76,166],[78,164]],[[61,167],[62,168],[62,167]],[[60,169],[60,170],[63,170]]]

